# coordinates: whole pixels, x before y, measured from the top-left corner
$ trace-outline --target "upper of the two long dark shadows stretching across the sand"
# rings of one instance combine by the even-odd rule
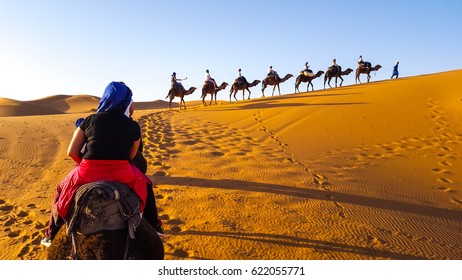
[[[190,177],[157,177],[155,182],[159,185],[196,186],[201,188],[218,188],[241,190],[251,192],[271,193],[294,196],[297,198],[325,200],[351,205],[379,208],[383,210],[398,211],[413,215],[423,215],[436,219],[462,221],[462,211],[438,208],[434,206],[418,205],[408,202],[387,200],[383,198],[366,197],[355,194],[346,194],[335,191],[319,189],[295,188],[277,184],[248,182],[234,179],[200,179]]]

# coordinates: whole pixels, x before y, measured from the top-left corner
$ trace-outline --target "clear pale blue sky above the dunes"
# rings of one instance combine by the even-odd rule
[[[373,81],[388,79],[397,60],[402,77],[461,69],[461,13],[460,0],[0,0],[0,97],[101,96],[124,81],[135,101],[152,101],[176,72],[198,88],[186,100],[197,100],[205,69],[231,84],[238,68],[263,80],[270,65],[296,76],[307,61],[315,71],[333,58],[355,69],[359,55],[384,67]],[[229,87],[218,94],[228,96]]]

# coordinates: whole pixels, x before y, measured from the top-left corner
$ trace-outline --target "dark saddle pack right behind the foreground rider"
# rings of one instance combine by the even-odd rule
[[[135,239],[142,218],[140,207],[138,196],[124,184],[109,181],[85,184],[75,193],[67,234],[89,235],[128,228],[130,238]]]

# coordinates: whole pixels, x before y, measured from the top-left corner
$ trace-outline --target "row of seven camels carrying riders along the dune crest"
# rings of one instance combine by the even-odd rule
[[[356,76],[355,76],[355,82],[356,84],[361,83],[360,80],[360,75],[361,74],[366,74],[367,75],[367,82],[370,82],[371,79],[371,72],[378,71],[382,66],[377,64],[376,66],[372,67],[372,64],[367,61],[362,60],[362,56],[359,57],[358,59],[358,67],[356,68]],[[303,70],[299,72],[299,75],[295,78],[295,93],[300,93],[299,86],[301,83],[307,83],[306,86],[306,91],[308,92],[310,89],[311,85],[311,91],[314,91],[314,86],[313,86],[313,80],[316,78],[321,77],[324,75],[324,89],[326,89],[326,84],[332,88],[330,82],[332,79],[335,80],[335,87],[337,86],[342,86],[343,84],[343,78],[342,76],[347,76],[350,73],[352,73],[354,70],[351,68],[347,68],[346,70],[342,70],[342,67],[340,65],[337,65],[336,59],[332,61],[332,65],[327,68],[326,71],[323,70],[318,70],[316,73],[313,72],[313,70],[309,69],[308,62],[305,63],[305,67]],[[269,86],[272,86],[272,96],[274,96],[274,92],[277,88],[279,95],[281,95],[281,90],[280,90],[280,84],[286,82],[290,78],[292,78],[293,75],[288,73],[284,77],[280,77],[279,74],[273,70],[273,67],[270,66],[268,69],[268,73],[266,77],[263,79],[263,81],[260,80],[254,80],[253,82],[248,82],[247,79],[241,75],[241,69],[238,70],[238,77],[234,80],[234,82],[231,84],[231,89],[229,92],[229,101],[232,102],[232,98],[234,100],[239,101],[236,97],[236,94],[239,91],[242,91],[242,100],[245,100],[245,93],[248,92],[247,99],[250,99],[251,91],[250,88],[257,86],[259,83],[262,84],[261,88],[261,97],[265,97],[265,89]],[[184,101],[184,97],[186,95],[190,95],[194,93],[196,90],[196,87],[190,87],[189,89],[185,89],[183,85],[180,83],[182,80],[186,80],[187,78],[184,79],[178,79],[176,78],[176,73],[172,74],[172,79],[171,79],[171,87],[170,90],[167,94],[167,97],[169,98],[169,110],[172,110],[172,101],[175,97],[180,98],[180,110],[181,109],[186,109],[186,102]],[[340,79],[340,83],[338,84],[338,79]],[[213,79],[210,75],[209,70],[206,70],[205,74],[205,80],[202,85],[202,105],[207,106],[207,105],[212,105],[213,100],[215,99],[215,104],[217,104],[217,94],[220,91],[223,91],[226,89],[226,87],[229,84],[227,82],[222,82],[219,86],[215,82],[215,79]],[[210,94],[210,102],[207,104],[205,102],[205,98],[207,95]]]

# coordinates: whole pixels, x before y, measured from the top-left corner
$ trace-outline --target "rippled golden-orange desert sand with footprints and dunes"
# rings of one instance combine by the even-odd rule
[[[461,259],[460,80],[266,98],[257,87],[252,100],[206,107],[186,97],[182,111],[135,104],[166,259]],[[0,259],[46,259],[74,122],[97,104],[0,99]]]

